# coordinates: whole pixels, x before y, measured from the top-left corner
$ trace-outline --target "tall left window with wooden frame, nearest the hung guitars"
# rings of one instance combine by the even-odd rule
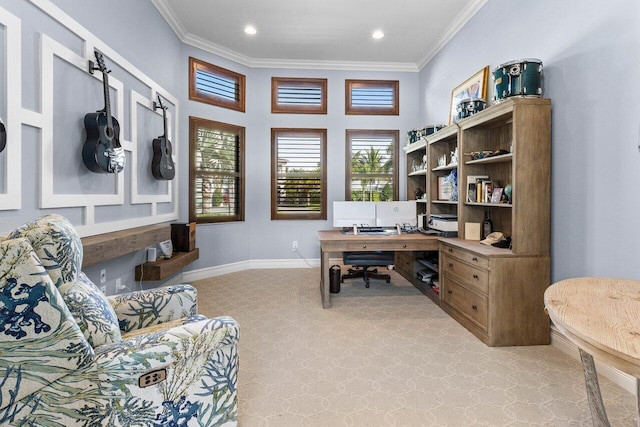
[[[244,221],[244,127],[189,117],[189,134],[189,220]]]

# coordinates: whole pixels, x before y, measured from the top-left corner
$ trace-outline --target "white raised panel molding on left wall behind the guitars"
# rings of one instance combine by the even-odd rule
[[[40,34],[40,105],[42,111],[31,111],[21,108],[21,88],[22,88],[22,70],[21,70],[21,21],[16,16],[8,13],[5,9],[0,8],[0,26],[5,28],[6,40],[5,51],[7,58],[6,65],[6,81],[7,87],[7,113],[5,124],[8,135],[10,135],[10,143],[7,144],[6,150],[0,156],[6,156],[5,159],[0,157],[0,166],[6,165],[5,173],[5,191],[0,193],[0,210],[21,209],[21,167],[25,167],[21,159],[21,126],[28,125],[41,129],[40,141],[40,209],[52,208],[78,208],[83,210],[83,223],[74,224],[81,236],[92,234],[101,234],[111,231],[122,230],[131,227],[139,227],[143,225],[156,224],[161,222],[173,221],[178,218],[178,189],[179,176],[173,180],[167,181],[165,185],[158,186],[159,194],[140,194],[138,189],[140,177],[144,174],[151,175],[149,168],[141,169],[138,167],[137,159],[139,158],[139,150],[150,150],[151,141],[138,141],[138,106],[143,106],[151,111],[153,109],[153,101],[157,95],[170,104],[171,112],[167,112],[167,133],[173,135],[169,138],[173,146],[173,159],[177,163],[176,145],[179,144],[177,135],[179,117],[179,106],[176,97],[172,96],[168,91],[164,90],[152,78],[145,75],[138,68],[133,66],[129,61],[123,58],[118,52],[111,49],[106,43],[97,38],[84,26],[79,24],[69,15],[64,13],[60,8],[55,6],[49,0],[29,0],[34,6],[49,15],[52,19],[63,25],[73,34],[83,41],[82,52],[76,53],[54,39],[51,34]],[[53,166],[53,156],[56,141],[54,141],[54,60],[59,58],[65,63],[77,67],[87,74],[89,61],[94,60],[94,50],[102,52],[110,63],[115,63],[134,79],[141,82],[149,90],[147,94],[141,94],[132,89],[125,87],[123,81],[118,80],[113,75],[109,76],[109,86],[115,91],[115,97],[112,97],[112,110],[114,117],[124,118],[124,99],[125,91],[129,91],[130,95],[130,140],[120,137],[120,143],[123,149],[129,152],[129,159],[125,171],[130,170],[130,175],[123,173],[113,175],[113,193],[107,194],[68,194],[55,190],[56,171]],[[102,82],[102,73],[94,72],[93,78]],[[114,99],[115,98],[115,99]],[[158,111],[155,111],[156,114]],[[160,112],[161,114],[161,112]],[[126,128],[126,123],[120,120],[121,128]],[[124,132],[121,132],[124,134]],[[78,144],[80,141],[78,142]],[[149,214],[138,216],[130,219],[116,219],[108,222],[96,222],[96,210],[102,206],[124,205],[127,203],[125,197],[125,180],[127,176],[131,176],[130,182],[130,199],[131,204],[148,204]],[[0,178],[1,179],[1,178]],[[2,181],[0,181],[1,183]],[[2,188],[2,187],[0,187]],[[75,193],[78,193],[77,191]],[[170,212],[157,215],[157,206],[160,203],[173,203]]]

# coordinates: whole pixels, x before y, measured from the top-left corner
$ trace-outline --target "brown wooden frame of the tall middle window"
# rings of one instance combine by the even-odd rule
[[[314,133],[320,135],[320,212],[278,213],[278,154],[279,133]],[[271,219],[272,220],[326,220],[327,219],[327,130],[308,128],[272,128],[271,129]]]

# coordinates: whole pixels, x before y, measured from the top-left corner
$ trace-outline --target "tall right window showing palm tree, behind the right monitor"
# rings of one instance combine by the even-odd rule
[[[397,130],[347,130],[345,200],[398,200]]]

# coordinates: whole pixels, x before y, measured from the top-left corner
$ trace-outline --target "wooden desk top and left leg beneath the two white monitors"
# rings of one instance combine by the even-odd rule
[[[320,295],[322,307],[331,307],[329,293],[329,255],[345,251],[437,251],[438,238],[413,234],[343,234],[340,230],[320,230]]]

